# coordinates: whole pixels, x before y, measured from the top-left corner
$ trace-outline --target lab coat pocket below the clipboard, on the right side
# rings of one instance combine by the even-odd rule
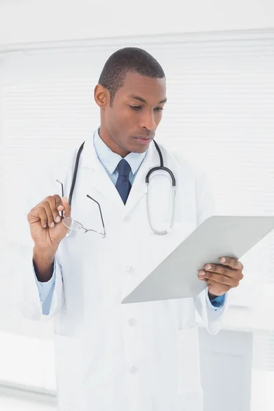
[[[199,342],[197,324],[178,330],[177,390],[182,397],[192,397],[200,390]]]

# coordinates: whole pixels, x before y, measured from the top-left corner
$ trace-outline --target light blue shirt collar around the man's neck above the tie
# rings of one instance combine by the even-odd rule
[[[123,157],[121,157],[121,155],[119,154],[114,153],[110,149],[110,147],[108,147],[105,142],[103,142],[103,140],[99,136],[98,129],[94,136],[94,146],[97,157],[99,158],[101,163],[105,166],[110,174],[113,174]],[[136,171],[138,171],[146,154],[147,151],[145,151],[145,153],[129,153],[126,155],[125,160],[127,160],[127,162],[129,163],[129,166],[132,169],[132,174],[135,174]]]

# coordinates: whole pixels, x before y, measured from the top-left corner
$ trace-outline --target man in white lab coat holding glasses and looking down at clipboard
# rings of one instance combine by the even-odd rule
[[[24,314],[53,318],[59,410],[201,411],[195,310],[210,334],[219,332],[227,291],[242,279],[242,264],[229,256],[218,256],[220,264],[205,262],[197,275],[208,288],[195,299],[121,304],[214,208],[203,173],[160,145],[176,179],[175,218],[168,234],[151,230],[145,176],[160,164],[153,138],[166,79],[149,53],[129,47],[112,54],[95,101],[101,124],[79,157],[71,204],[79,147],[55,175],[65,197],[53,180],[52,191],[28,214],[34,248],[24,277]],[[170,179],[155,174],[151,219],[167,228]]]

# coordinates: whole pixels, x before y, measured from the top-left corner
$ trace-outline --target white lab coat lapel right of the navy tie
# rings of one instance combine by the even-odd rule
[[[160,165],[158,151],[155,149],[154,143],[151,142],[147,155],[138,170],[134,183],[132,184],[132,189],[129,192],[129,197],[127,198],[127,203],[125,204],[125,215],[129,214],[129,212],[132,211],[132,208],[134,208],[138,201],[145,195],[145,177],[152,167],[158,165]]]

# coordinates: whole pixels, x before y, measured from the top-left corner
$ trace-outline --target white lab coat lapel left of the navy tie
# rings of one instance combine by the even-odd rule
[[[116,206],[123,208],[124,203],[119,192],[97,157],[93,144],[93,137],[86,140],[82,154],[82,166],[85,169],[88,169],[89,172],[87,190],[89,187],[92,187],[94,190],[97,190],[104,195],[108,200],[112,201]]]

